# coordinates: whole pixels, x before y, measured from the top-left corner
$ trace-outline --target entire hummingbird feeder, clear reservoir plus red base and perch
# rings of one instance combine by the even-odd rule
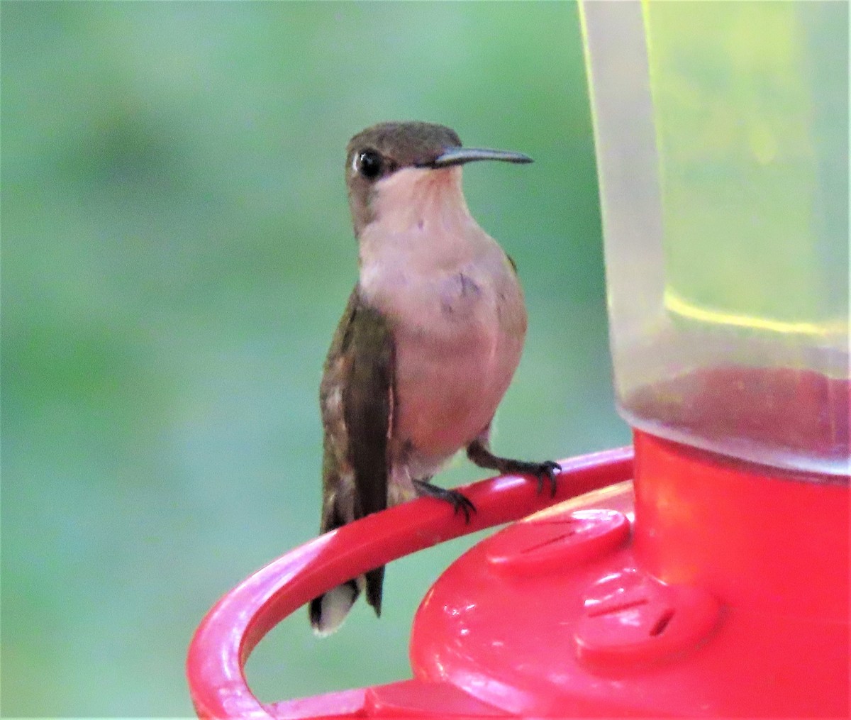
[[[199,716],[849,716],[847,5],[580,7],[634,458],[563,461],[555,498],[471,485],[469,525],[416,500],[280,557],[198,628]],[[248,654],[312,597],[511,521],[426,594],[411,679],[248,689]]]

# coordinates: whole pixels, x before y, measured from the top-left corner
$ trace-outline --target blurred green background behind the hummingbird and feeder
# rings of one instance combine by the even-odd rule
[[[317,384],[356,277],[344,148],[368,124],[535,158],[465,170],[528,298],[494,448],[628,442],[574,3],[0,12],[4,715],[190,713],[203,614],[316,534]],[[284,621],[248,663],[260,698],[408,677],[420,598],[474,540],[391,565],[381,620]]]

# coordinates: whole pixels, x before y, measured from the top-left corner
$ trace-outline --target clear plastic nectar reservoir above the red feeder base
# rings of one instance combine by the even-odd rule
[[[847,475],[848,4],[581,9],[621,413]]]

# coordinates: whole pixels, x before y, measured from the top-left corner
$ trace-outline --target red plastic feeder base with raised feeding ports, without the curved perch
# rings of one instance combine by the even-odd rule
[[[638,432],[634,500],[621,484],[472,548],[411,659],[513,716],[847,717],[847,479]]]

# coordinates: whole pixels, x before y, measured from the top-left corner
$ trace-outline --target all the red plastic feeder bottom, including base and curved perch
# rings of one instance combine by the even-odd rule
[[[199,627],[187,664],[198,714],[848,717],[849,478],[637,432],[633,492],[619,482],[629,461],[617,450],[568,461],[557,500],[586,494],[494,534],[437,580],[414,620],[414,679],[263,706],[243,664],[284,616],[547,499],[494,478],[465,489],[479,510],[470,526],[418,500],[288,553]]]

